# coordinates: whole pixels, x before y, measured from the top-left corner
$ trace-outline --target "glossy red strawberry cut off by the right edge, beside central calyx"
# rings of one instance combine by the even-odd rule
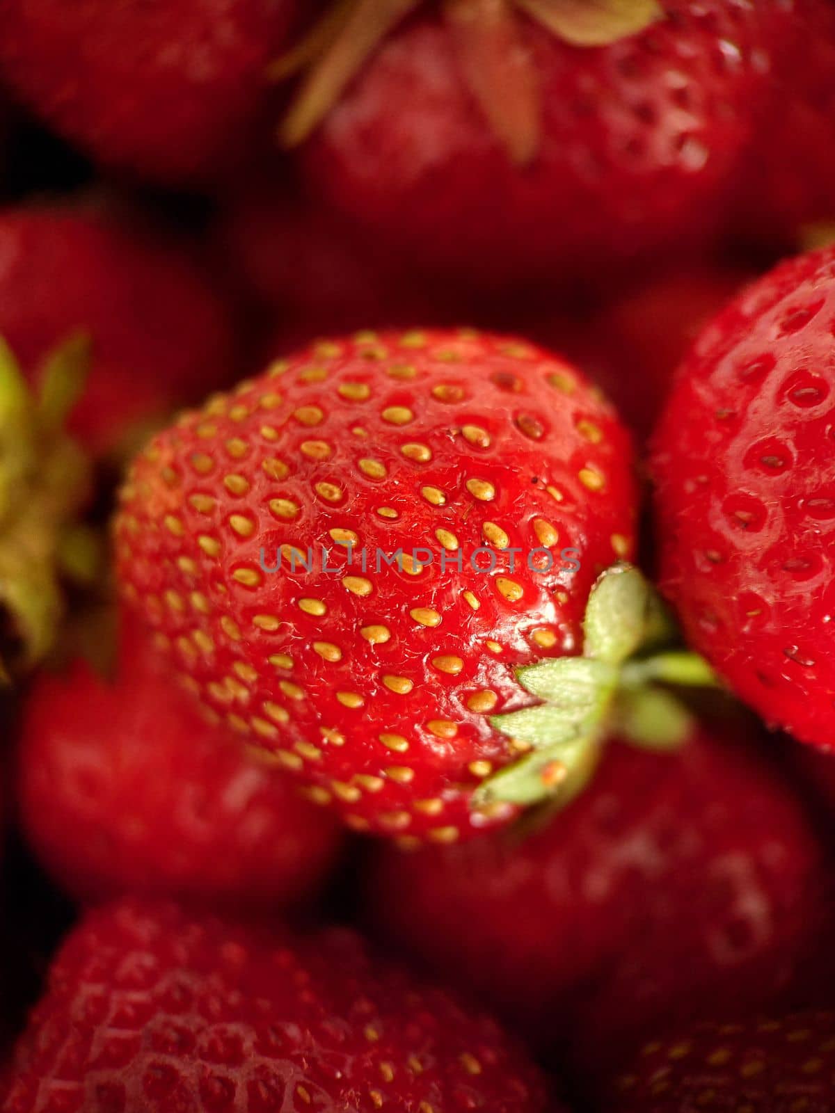
[[[704,332],[656,434],[661,587],[768,722],[832,748],[835,250],[779,266]]]

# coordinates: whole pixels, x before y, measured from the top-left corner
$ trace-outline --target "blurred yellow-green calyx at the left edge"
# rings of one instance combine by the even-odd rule
[[[62,614],[61,578],[84,580],[95,554],[76,515],[90,469],[63,429],[86,377],[89,344],[76,335],[50,354],[31,390],[0,339],[0,677],[51,649]]]

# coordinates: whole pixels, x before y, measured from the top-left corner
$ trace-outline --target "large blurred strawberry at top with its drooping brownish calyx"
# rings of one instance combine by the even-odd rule
[[[735,0],[446,0],[395,26],[416,7],[342,6],[285,140],[310,137],[308,189],[375,243],[497,286],[704,237],[792,20]]]

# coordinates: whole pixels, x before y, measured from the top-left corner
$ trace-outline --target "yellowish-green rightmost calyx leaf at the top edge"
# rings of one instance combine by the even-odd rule
[[[606,47],[664,19],[657,0],[515,0],[563,42]]]

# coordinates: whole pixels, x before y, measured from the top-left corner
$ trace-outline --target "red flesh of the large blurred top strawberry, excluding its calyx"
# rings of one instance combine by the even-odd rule
[[[698,239],[727,210],[787,17],[728,0],[662,8],[665,20],[595,49],[519,19],[542,98],[540,149],[521,168],[440,18],[412,20],[302,148],[308,188],[410,258],[484,285],[563,265],[608,272]]]

